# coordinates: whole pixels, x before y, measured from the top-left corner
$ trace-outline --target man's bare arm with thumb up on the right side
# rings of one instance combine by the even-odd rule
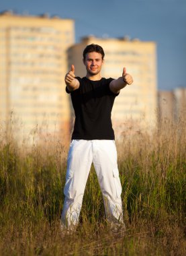
[[[124,67],[122,77],[114,79],[110,82],[109,88],[114,94],[118,94],[121,89],[133,83],[133,78],[130,74],[126,73],[126,67]]]

